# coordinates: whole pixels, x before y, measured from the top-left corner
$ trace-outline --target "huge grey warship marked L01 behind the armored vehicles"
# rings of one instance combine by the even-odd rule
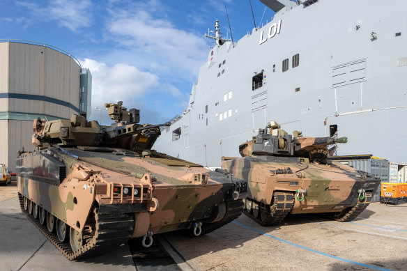
[[[261,0],[275,11],[237,42],[222,38],[201,65],[185,111],[154,148],[206,167],[270,119],[309,137],[336,134],[331,155],[407,162],[407,2]],[[378,144],[378,138],[381,144]],[[373,148],[374,147],[374,148]]]

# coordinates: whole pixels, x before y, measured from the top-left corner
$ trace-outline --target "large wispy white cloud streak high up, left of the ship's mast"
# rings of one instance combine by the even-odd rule
[[[148,8],[132,13],[115,10],[112,14],[107,23],[109,33],[121,45],[140,54],[143,65],[148,65],[150,59],[160,72],[188,79],[196,76],[207,51],[203,36],[177,29],[169,20],[155,18]]]

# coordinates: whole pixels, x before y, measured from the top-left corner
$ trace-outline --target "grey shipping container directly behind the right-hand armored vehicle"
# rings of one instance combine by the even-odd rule
[[[350,155],[350,156],[332,156],[330,160],[334,160],[341,164],[347,164],[354,169],[371,173],[376,178],[379,178],[382,183],[389,182],[390,162],[383,158],[374,157],[372,155]],[[372,196],[371,202],[381,201],[381,185],[379,185],[376,193]]]

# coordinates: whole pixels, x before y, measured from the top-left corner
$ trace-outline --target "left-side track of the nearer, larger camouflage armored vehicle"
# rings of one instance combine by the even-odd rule
[[[72,251],[68,243],[61,242],[56,234],[48,231],[46,225],[41,225],[38,219],[34,219],[34,217],[24,209],[24,196],[22,196],[22,194],[19,193],[18,198],[24,215],[26,215],[34,226],[43,233],[45,238],[70,261],[98,256],[112,249],[114,245],[127,242],[131,238],[135,225],[135,220],[132,215],[125,213],[104,214],[95,208],[95,230],[93,237],[86,240],[86,244],[84,244],[81,249]]]

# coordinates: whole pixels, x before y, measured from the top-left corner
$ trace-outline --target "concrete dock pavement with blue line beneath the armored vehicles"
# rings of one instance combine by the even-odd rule
[[[263,227],[242,215],[199,238],[155,235],[178,264],[164,266],[138,265],[134,241],[68,261],[22,215],[15,183],[0,187],[0,230],[0,270],[407,270],[407,204],[371,203],[353,222],[291,215]]]

